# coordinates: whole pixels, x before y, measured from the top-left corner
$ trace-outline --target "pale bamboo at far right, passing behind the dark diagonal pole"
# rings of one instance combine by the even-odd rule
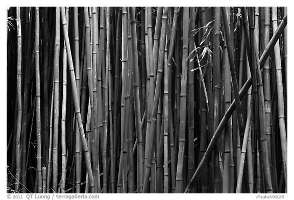
[[[278,28],[277,7],[272,7],[272,23],[273,23],[273,32],[276,32]],[[282,163],[283,163],[283,169],[284,169],[285,193],[287,193],[287,174],[288,174],[287,137],[286,137],[287,134],[286,134],[286,128],[285,128],[284,91],[283,91],[283,81],[282,81],[282,65],[281,65],[279,40],[275,44],[274,49],[275,49],[277,93],[278,93],[278,119],[279,119],[281,148],[282,148]]]

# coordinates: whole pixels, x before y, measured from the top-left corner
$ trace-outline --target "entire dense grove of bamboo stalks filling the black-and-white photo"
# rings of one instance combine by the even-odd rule
[[[7,192],[287,193],[287,7],[11,7]]]

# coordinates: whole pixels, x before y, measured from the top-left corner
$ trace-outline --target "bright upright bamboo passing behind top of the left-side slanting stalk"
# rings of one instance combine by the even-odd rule
[[[68,7],[65,8],[66,18],[68,23]],[[67,27],[68,30],[68,27]],[[65,193],[65,177],[66,177],[66,141],[65,141],[65,123],[66,123],[66,48],[65,43],[63,45],[63,64],[62,64],[62,112],[61,112],[61,180],[60,180],[60,188],[61,193]]]

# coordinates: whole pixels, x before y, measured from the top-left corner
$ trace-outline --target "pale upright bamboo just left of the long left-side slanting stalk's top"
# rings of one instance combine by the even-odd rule
[[[58,167],[58,122],[59,122],[59,51],[60,51],[60,7],[56,7],[54,54],[54,132],[53,132],[53,192],[57,192]]]

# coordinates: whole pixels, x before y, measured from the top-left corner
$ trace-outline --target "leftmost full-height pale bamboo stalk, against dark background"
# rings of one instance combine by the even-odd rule
[[[15,159],[16,159],[16,175],[15,175],[15,191],[19,190],[20,183],[20,132],[21,132],[21,22],[20,22],[20,7],[16,7],[17,18],[17,128],[15,139]]]

